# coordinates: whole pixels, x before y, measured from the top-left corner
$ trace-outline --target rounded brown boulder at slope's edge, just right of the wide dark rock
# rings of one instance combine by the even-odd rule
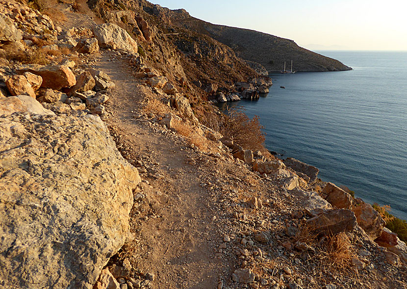
[[[368,236],[374,240],[382,235],[386,222],[372,206],[358,202],[353,206],[352,211],[355,213],[357,224]]]

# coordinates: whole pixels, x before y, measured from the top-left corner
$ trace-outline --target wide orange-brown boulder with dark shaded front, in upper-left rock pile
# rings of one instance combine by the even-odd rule
[[[65,65],[30,65],[19,69],[18,72],[30,72],[42,77],[41,87],[59,90],[62,87],[71,87],[76,84],[76,78],[72,70]]]

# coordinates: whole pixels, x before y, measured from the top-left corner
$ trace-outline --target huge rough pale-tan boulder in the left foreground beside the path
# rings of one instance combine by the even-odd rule
[[[92,289],[129,236],[138,171],[97,116],[0,117],[4,288]]]

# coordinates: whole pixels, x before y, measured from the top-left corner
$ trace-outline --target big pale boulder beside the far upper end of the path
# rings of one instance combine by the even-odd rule
[[[104,23],[93,27],[93,34],[102,48],[123,49],[137,53],[137,42],[116,24]]]

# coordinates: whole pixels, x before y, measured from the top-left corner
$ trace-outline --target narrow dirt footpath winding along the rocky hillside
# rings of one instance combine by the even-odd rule
[[[139,240],[132,261],[141,272],[155,275],[152,288],[215,288],[221,274],[209,240],[221,236],[208,224],[217,212],[200,186],[202,170],[187,164],[199,155],[172,133],[157,133],[148,121],[132,117],[149,89],[133,79],[123,62],[107,60],[104,55],[98,62],[116,84],[107,123],[125,144],[127,159],[142,160],[148,171],[140,192],[145,199],[135,202],[131,213]],[[210,174],[214,166],[207,160],[203,171]]]

